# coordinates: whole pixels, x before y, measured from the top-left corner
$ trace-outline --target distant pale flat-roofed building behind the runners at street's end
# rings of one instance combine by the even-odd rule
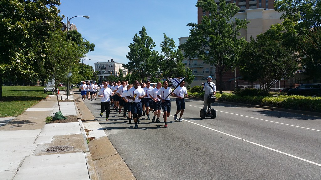
[[[107,80],[108,76],[119,76],[119,69],[122,70],[123,76],[126,76],[128,70],[123,67],[123,63],[115,62],[113,59],[108,60],[108,62],[95,62],[94,71],[98,71],[99,82]]]

